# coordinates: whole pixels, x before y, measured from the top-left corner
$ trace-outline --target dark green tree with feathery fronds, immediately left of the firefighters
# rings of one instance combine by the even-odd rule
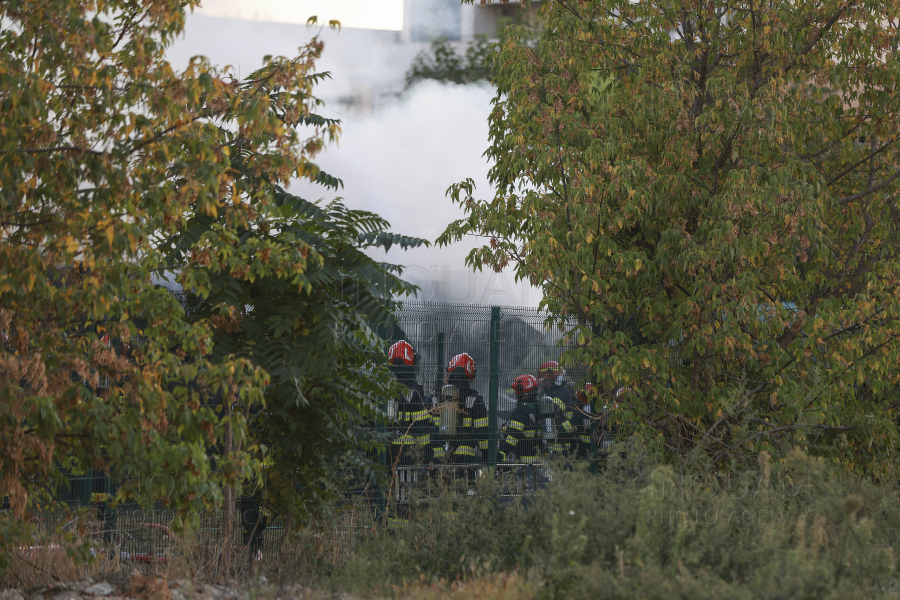
[[[186,303],[192,319],[214,323],[211,358],[240,357],[270,377],[264,407],[234,408],[249,421],[265,465],[268,507],[302,519],[343,491],[342,470],[378,475],[363,450],[379,438],[364,424],[377,418],[380,399],[397,393],[385,344],[369,324],[393,323],[394,298],[417,288],[399,278],[401,267],[363,250],[428,242],[390,234],[383,219],[339,200],[320,206],[269,182],[256,185],[271,203],[252,221],[229,227],[224,216],[197,212],[162,245],[173,248],[169,263],[186,269],[184,281],[210,290]],[[242,276],[254,263],[255,276]],[[306,265],[299,285],[286,276],[297,264]],[[223,452],[239,447],[226,436]]]

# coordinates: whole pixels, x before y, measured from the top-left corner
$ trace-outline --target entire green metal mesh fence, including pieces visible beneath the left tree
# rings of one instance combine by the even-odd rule
[[[557,468],[553,465],[582,463],[596,469],[602,464],[604,457],[615,447],[614,442],[625,433],[606,427],[598,418],[602,402],[580,409],[561,406],[562,412],[582,410],[588,412],[590,418],[582,419],[582,429],[570,432],[563,429],[564,415],[556,413],[555,438],[542,434],[540,440],[534,440],[534,450],[527,456],[524,452],[518,455],[503,453],[503,440],[509,434],[510,417],[516,408],[512,381],[522,374],[537,376],[542,363],[561,362],[562,354],[573,348],[572,340],[566,338],[575,323],[548,323],[546,313],[532,308],[404,301],[395,322],[373,324],[386,341],[406,340],[419,355],[413,376],[425,391],[429,439],[427,444],[398,444],[408,433],[398,428],[401,420],[382,422],[379,427],[390,437],[379,455],[390,474],[387,487],[348,478],[347,490],[338,508],[366,512],[382,521],[402,520],[416,505],[446,496],[448,491],[460,497],[473,495],[479,477],[496,478],[499,493],[515,497],[531,493],[545,484],[552,478],[552,469]],[[627,322],[617,326],[632,337],[636,335],[629,330],[633,326]],[[484,412],[472,416],[473,421],[486,419],[477,428],[463,425],[466,415],[472,414],[471,407],[461,400],[449,410],[441,397],[447,383],[448,363],[462,353],[475,361],[475,375],[469,385],[484,403]],[[588,371],[578,365],[563,367],[564,373],[557,383],[573,394],[587,380]],[[385,399],[386,408],[390,402],[391,399]],[[460,427],[455,431],[448,430],[441,421],[442,417],[453,414],[460,415],[461,419],[457,421]],[[538,425],[543,426],[542,423]],[[579,435],[584,436],[583,440],[589,439],[587,445],[580,446],[580,451],[576,447]],[[395,452],[396,446],[402,446],[402,451]],[[455,454],[454,450],[460,446],[471,448],[472,454]],[[443,452],[439,452],[439,447]],[[102,498],[115,492],[115,482],[105,475],[93,473],[70,475],[67,480],[68,485],[60,487],[56,495],[59,505],[67,506],[68,510],[36,512],[35,518],[39,522],[65,525],[61,520],[78,513],[79,518],[86,519],[89,524],[87,531],[91,532],[92,539],[113,548],[125,560],[153,564],[165,560],[172,552],[174,515],[171,512],[164,509],[144,511],[137,506],[107,510]],[[127,485],[127,482],[120,484]],[[266,515],[252,499],[241,500],[235,514],[234,546],[246,547],[251,554],[271,554],[278,547],[281,522],[277,518]],[[204,513],[194,518],[197,546],[220,547],[224,530],[221,512]]]

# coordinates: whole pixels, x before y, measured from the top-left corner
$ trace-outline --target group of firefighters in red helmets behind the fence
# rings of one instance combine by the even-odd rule
[[[416,381],[418,355],[405,340],[388,352],[390,369],[402,384],[388,402],[393,432],[387,460],[392,467],[487,461],[490,428],[484,398],[473,387],[475,361],[454,356],[444,386],[426,394]],[[537,375],[522,374],[511,385],[516,406],[498,432],[497,461],[535,463],[549,457],[586,459],[603,415],[592,415],[590,384],[577,393],[556,361],[543,363]]]

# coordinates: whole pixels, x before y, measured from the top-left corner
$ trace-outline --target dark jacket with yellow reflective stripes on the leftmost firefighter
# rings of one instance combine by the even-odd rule
[[[425,392],[414,379],[399,379],[406,386],[393,405],[396,414],[392,423],[390,442],[390,464],[411,465],[428,464],[433,460],[432,434],[434,425],[431,422],[429,409],[431,403],[425,403]],[[389,413],[392,412],[389,410]]]

